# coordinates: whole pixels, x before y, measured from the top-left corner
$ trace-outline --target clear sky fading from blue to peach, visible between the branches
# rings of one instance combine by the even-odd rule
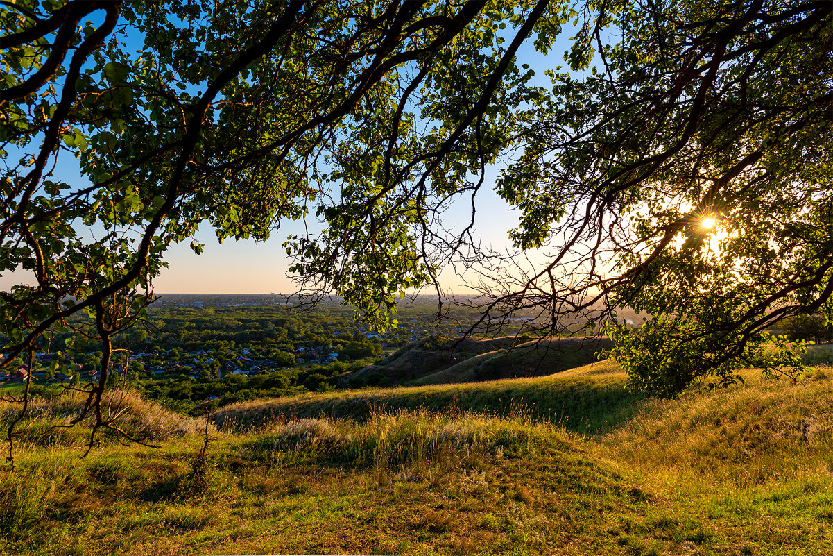
[[[559,48],[561,47],[561,48]],[[519,52],[519,63],[529,63],[536,72],[535,83],[549,85],[544,71],[562,63],[561,53],[566,47],[556,45],[545,57],[537,53],[528,39]],[[57,172],[66,183],[82,185],[77,162],[72,157],[59,159]],[[502,249],[510,245],[507,233],[516,227],[518,217],[507,203],[494,192],[496,168],[488,168],[486,182],[476,197],[475,238],[481,238],[484,245]],[[460,207],[448,211],[447,218],[468,218],[467,198],[461,199]],[[314,218],[314,217],[313,217]],[[452,222],[453,223],[453,222]],[[311,223],[314,225],[314,223]],[[196,255],[189,247],[190,241],[169,248],[167,268],[162,268],[154,280],[156,293],[293,293],[297,285],[287,275],[291,264],[282,243],[287,236],[302,233],[303,223],[287,222],[272,234],[266,242],[252,240],[226,240],[217,243],[212,229],[207,224],[197,232],[195,239],[204,244],[202,254]],[[7,290],[17,283],[27,283],[27,273],[17,271],[0,275],[0,290]],[[471,293],[466,287],[466,278],[459,277],[446,269],[440,277],[441,287],[446,293]]]

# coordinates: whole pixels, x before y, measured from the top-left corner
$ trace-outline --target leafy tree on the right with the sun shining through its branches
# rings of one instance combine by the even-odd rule
[[[516,247],[554,253],[489,283],[484,318],[535,310],[557,332],[650,313],[608,328],[611,354],[665,395],[743,366],[792,373],[761,343],[833,292],[831,10],[585,3],[566,58],[589,74],[551,73],[498,186],[521,210]]]

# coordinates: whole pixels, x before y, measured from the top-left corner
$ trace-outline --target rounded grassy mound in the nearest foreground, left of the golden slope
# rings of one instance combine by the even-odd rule
[[[202,482],[198,448],[22,453],[0,485],[0,550],[615,553],[619,521],[657,503],[565,429],[521,415],[382,412],[212,433]]]

